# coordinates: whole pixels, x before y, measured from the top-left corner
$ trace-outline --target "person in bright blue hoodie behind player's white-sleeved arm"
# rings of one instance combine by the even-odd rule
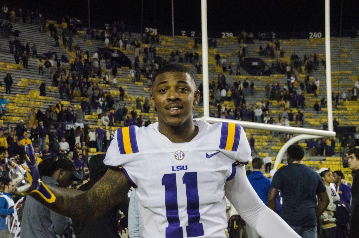
[[[267,205],[267,196],[270,187],[270,179],[265,177],[263,174],[264,162],[261,158],[254,158],[252,160],[253,171],[248,176],[248,180],[251,183],[252,187],[256,191],[258,197]],[[260,237],[255,229],[250,225],[246,224],[248,238],[257,238]]]

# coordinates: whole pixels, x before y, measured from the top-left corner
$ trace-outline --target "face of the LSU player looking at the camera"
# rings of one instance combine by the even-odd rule
[[[191,76],[182,72],[166,72],[156,77],[152,86],[151,104],[156,107],[159,121],[176,127],[192,120],[192,106],[199,102]]]

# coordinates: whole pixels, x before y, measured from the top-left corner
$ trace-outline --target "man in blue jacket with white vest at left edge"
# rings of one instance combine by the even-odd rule
[[[9,237],[9,228],[11,226],[11,215],[14,213],[14,200],[12,197],[16,187],[11,180],[2,182],[4,193],[0,195],[0,238]]]

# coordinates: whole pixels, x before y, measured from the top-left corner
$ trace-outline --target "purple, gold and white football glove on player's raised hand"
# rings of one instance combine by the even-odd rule
[[[48,203],[55,202],[55,195],[42,183],[37,168],[37,161],[34,155],[32,145],[25,145],[26,164],[28,168],[18,165],[9,158],[5,159],[5,163],[10,169],[10,178],[18,191],[23,195],[37,193]]]

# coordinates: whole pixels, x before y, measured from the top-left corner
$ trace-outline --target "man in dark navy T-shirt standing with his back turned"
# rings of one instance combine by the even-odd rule
[[[329,204],[327,189],[321,177],[302,163],[304,150],[301,146],[289,146],[287,154],[288,165],[276,171],[273,176],[268,207],[276,211],[276,200],[281,191],[281,218],[301,237],[316,238],[317,219]]]

